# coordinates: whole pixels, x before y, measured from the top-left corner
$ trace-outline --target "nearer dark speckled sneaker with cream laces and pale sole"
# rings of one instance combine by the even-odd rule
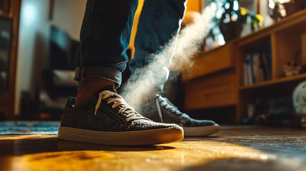
[[[143,117],[115,92],[103,90],[77,107],[75,98],[69,98],[59,139],[103,145],[154,145],[183,139],[182,127]]]

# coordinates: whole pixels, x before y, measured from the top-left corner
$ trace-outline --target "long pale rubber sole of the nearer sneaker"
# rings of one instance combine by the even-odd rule
[[[136,146],[155,145],[181,141],[182,127],[130,132],[101,132],[70,127],[60,127],[59,139],[102,145]]]

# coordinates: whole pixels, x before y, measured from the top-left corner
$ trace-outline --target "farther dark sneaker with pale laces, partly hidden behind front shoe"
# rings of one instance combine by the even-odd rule
[[[219,125],[214,121],[193,119],[161,95],[138,108],[135,109],[155,122],[175,123],[183,127],[185,136],[206,136],[219,132]]]

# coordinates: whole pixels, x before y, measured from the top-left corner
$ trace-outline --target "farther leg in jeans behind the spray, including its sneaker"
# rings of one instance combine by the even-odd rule
[[[163,90],[163,85],[168,79],[167,72],[171,59],[175,51],[175,42],[180,29],[181,19],[185,11],[185,0],[146,0],[135,38],[135,54],[131,60],[130,69],[132,72],[131,81],[137,85],[145,84],[144,79],[150,85],[145,86],[147,91],[149,86],[152,90]],[[160,5],[163,4],[163,5]],[[155,11],[155,16],[149,14]],[[169,19],[171,18],[171,19]],[[158,27],[156,26],[158,24]],[[152,29],[150,29],[152,27]],[[133,80],[133,76],[141,77],[140,82]],[[131,86],[134,88],[135,86]],[[185,136],[204,136],[217,133],[219,125],[211,120],[197,120],[188,114],[180,112],[174,104],[167,98],[153,92],[151,95],[145,94],[143,104],[135,104],[135,109],[157,122],[176,123],[183,127]],[[136,88],[136,91],[139,90]],[[137,102],[140,104],[139,102]]]

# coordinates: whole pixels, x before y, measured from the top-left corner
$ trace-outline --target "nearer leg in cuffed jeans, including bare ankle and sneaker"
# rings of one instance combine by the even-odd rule
[[[66,103],[60,139],[103,145],[151,145],[183,139],[181,127],[143,117],[116,93],[128,61],[126,49],[137,2],[87,0],[76,55],[75,79],[80,86],[77,99],[71,97]]]

